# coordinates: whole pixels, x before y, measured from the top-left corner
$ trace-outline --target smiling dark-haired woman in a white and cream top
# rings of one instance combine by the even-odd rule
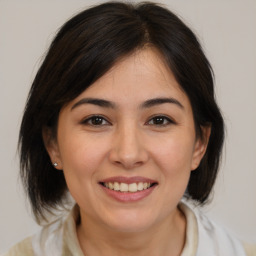
[[[210,64],[182,21],[152,3],[81,12],[52,42],[20,130],[38,222],[69,193],[75,206],[6,255],[250,255],[181,202],[207,201],[223,139]]]

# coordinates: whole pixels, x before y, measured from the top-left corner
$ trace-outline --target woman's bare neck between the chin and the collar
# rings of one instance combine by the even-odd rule
[[[77,226],[78,240],[85,256],[178,256],[185,243],[186,219],[177,208],[153,227],[140,232],[118,232],[104,228],[86,217]]]

